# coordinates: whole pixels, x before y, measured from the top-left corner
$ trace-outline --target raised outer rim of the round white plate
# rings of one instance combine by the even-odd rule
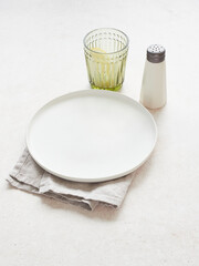
[[[33,155],[31,149],[30,149],[30,141],[29,141],[29,135],[30,135],[30,127],[32,125],[32,122],[34,120],[34,117],[43,110],[45,109],[48,105],[51,105],[53,102],[57,102],[59,100],[61,100],[62,98],[70,98],[70,96],[81,96],[82,94],[107,94],[107,95],[117,95],[118,98],[123,98],[123,99],[126,99],[128,101],[132,101],[134,102],[134,104],[136,104],[137,106],[139,106],[140,109],[143,109],[144,112],[146,112],[148,114],[148,116],[150,117],[153,124],[154,124],[154,129],[155,129],[155,140],[154,140],[154,144],[153,144],[153,147],[151,147],[151,151],[149,152],[149,154],[139,163],[137,164],[135,167],[130,168],[130,170],[127,170],[123,173],[118,173],[118,174],[115,174],[115,175],[108,175],[108,176],[104,176],[104,177],[94,177],[94,178],[82,178],[82,177],[71,177],[71,176],[66,176],[64,174],[60,174],[60,173],[56,173],[52,170],[50,170],[49,167],[45,167],[42,163],[40,163]],[[119,177],[124,177],[126,176],[127,174],[130,174],[133,173],[134,171],[136,171],[138,167],[140,167],[148,158],[149,156],[151,155],[154,149],[155,149],[155,145],[157,143],[157,137],[158,137],[158,130],[157,130],[157,125],[156,125],[156,122],[155,122],[155,119],[154,116],[151,115],[151,113],[145,108],[142,105],[142,103],[137,102],[136,100],[134,100],[133,98],[128,96],[128,95],[125,95],[125,94],[122,94],[121,92],[112,92],[112,91],[106,91],[106,90],[78,90],[78,91],[72,91],[72,92],[69,92],[69,93],[65,93],[65,94],[62,94],[60,96],[56,96],[52,100],[50,100],[49,102],[46,102],[45,104],[43,104],[31,117],[31,120],[29,121],[29,124],[27,126],[27,131],[25,131],[25,143],[27,143],[27,147],[29,150],[29,153],[30,155],[32,156],[32,158],[36,162],[38,165],[40,165],[44,171],[49,172],[50,174],[53,174],[55,175],[56,177],[60,177],[60,178],[63,178],[63,180],[67,180],[67,181],[73,181],[73,182],[81,182],[81,183],[98,183],[98,182],[105,182],[105,181],[112,181],[112,180],[116,180],[116,178],[119,178]]]

